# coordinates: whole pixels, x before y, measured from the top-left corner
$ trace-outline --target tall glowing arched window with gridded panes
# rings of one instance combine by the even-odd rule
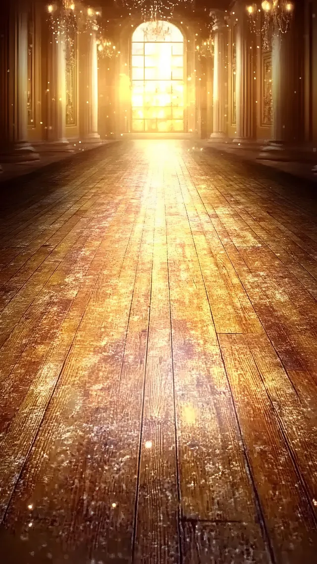
[[[184,37],[167,21],[132,35],[132,131],[184,131]]]

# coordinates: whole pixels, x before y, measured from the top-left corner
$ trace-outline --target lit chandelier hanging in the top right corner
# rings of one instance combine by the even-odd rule
[[[256,31],[257,17],[261,17],[261,33],[263,47],[265,50],[270,47],[270,36],[273,33],[286,33],[294,11],[293,2],[288,0],[264,0],[261,9],[256,3],[247,6],[247,12],[251,29]]]

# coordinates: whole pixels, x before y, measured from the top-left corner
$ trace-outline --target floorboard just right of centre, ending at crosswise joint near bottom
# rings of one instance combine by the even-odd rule
[[[254,521],[255,499],[180,189],[166,182],[181,510]]]

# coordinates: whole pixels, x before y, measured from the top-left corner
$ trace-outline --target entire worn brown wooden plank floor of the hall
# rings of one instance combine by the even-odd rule
[[[3,188],[3,564],[317,562],[317,196],[191,145]]]

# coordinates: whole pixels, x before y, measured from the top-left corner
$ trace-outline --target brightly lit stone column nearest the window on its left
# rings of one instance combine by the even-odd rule
[[[96,30],[93,27],[79,36],[79,59],[81,140],[84,143],[98,143],[98,57]]]

